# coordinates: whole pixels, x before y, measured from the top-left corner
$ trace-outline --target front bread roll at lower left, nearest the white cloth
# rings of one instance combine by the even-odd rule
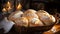
[[[21,17],[15,20],[17,26],[28,26],[28,19],[26,17]]]

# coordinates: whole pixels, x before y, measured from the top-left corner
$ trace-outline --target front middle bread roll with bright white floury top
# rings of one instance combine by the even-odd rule
[[[36,27],[36,26],[43,26],[43,23],[38,18],[29,19],[29,26]]]

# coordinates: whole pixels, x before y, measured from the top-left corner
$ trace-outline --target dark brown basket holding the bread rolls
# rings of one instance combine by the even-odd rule
[[[55,24],[55,23],[54,23]],[[48,26],[37,26],[37,27],[24,27],[14,25],[15,31],[18,33],[32,33],[32,32],[44,32],[50,30],[54,24]]]

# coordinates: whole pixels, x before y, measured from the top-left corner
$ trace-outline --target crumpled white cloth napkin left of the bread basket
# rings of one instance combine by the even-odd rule
[[[14,22],[9,21],[7,17],[5,17],[0,23],[0,29],[3,28],[4,33],[8,33],[14,24]]]

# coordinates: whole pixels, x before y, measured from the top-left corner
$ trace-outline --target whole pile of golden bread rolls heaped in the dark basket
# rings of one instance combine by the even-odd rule
[[[51,25],[55,22],[55,18],[44,10],[35,11],[28,9],[24,13],[22,11],[13,12],[9,20],[14,21],[17,26],[36,27]]]

